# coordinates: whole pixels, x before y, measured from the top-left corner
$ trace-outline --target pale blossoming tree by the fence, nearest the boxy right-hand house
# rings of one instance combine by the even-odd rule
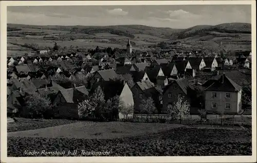
[[[183,97],[179,96],[174,107],[168,111],[169,115],[172,116],[172,119],[181,120],[185,118],[186,115],[189,115],[190,104],[187,100],[183,101]]]

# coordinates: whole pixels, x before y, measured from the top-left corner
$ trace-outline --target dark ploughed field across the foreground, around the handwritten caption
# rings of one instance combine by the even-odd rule
[[[85,124],[85,123],[84,123]],[[130,123],[133,124],[133,123]],[[139,123],[137,123],[139,124]],[[77,124],[76,124],[77,125]],[[143,126],[145,126],[143,128]],[[102,123],[101,130],[96,125],[78,126],[71,130],[60,126],[54,132],[66,132],[66,136],[57,138],[51,136],[41,137],[42,135],[24,137],[8,137],[7,155],[8,157],[31,156],[24,155],[25,150],[29,151],[73,151],[77,150],[76,155],[50,155],[39,154],[33,156],[85,156],[81,150],[85,151],[110,151],[108,156],[215,156],[215,155],[251,155],[251,135],[244,130],[226,129],[197,129],[197,128],[166,128],[164,131],[154,133],[151,129],[156,129],[156,124],[142,123],[136,126],[120,123],[114,125]],[[108,138],[99,137],[100,134],[90,136],[92,133],[106,133],[106,130],[113,128],[113,133],[106,135]],[[124,128],[125,127],[125,128]],[[81,129],[85,131],[81,131]],[[165,127],[161,128],[165,129]],[[135,133],[144,131],[144,134]],[[159,129],[160,130],[160,129]],[[78,132],[80,134],[78,135]],[[29,132],[29,131],[28,131]],[[32,132],[32,131],[31,131]],[[44,131],[45,132],[45,131]],[[121,133],[119,133],[121,132]],[[122,132],[133,132],[134,136],[122,137]],[[70,136],[72,135],[72,136]],[[81,138],[83,135],[84,138]],[[18,136],[18,135],[17,135]],[[88,137],[92,137],[91,139]]]

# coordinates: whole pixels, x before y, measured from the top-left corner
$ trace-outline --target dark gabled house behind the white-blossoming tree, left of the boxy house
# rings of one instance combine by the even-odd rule
[[[196,98],[195,91],[186,78],[173,80],[173,82],[164,87],[161,114],[167,114],[167,108],[174,107],[179,97],[183,97],[183,100],[187,100],[191,105]]]

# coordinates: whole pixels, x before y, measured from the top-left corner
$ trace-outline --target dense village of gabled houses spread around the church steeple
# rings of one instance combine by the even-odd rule
[[[134,53],[129,39],[126,47],[80,52],[54,44],[35,56],[7,57],[8,116],[113,121],[251,114],[251,52]],[[96,112],[99,100],[105,111]]]

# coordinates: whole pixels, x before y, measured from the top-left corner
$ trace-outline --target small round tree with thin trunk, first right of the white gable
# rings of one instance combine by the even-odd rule
[[[154,100],[149,97],[148,99],[142,99],[141,103],[139,104],[141,114],[146,114],[146,121],[148,121],[148,115],[154,114],[157,112]]]

